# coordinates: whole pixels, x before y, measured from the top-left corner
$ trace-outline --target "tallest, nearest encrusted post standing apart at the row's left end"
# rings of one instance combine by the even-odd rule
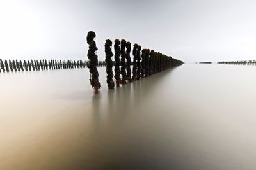
[[[86,41],[89,45],[89,50],[88,50],[88,59],[90,60],[89,64],[89,70],[90,70],[90,83],[92,85],[92,88],[94,92],[99,92],[99,89],[101,87],[100,82],[99,82],[99,73],[97,70],[97,64],[98,64],[98,56],[96,55],[96,51],[98,50],[96,43],[94,41],[94,38],[96,37],[95,32],[89,31],[86,37]]]

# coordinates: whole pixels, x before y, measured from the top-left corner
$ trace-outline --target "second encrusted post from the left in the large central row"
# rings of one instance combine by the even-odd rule
[[[105,43],[105,54],[106,54],[106,72],[107,72],[107,83],[108,83],[108,87],[109,89],[113,89],[115,87],[115,83],[113,80],[113,71],[112,71],[112,67],[113,67],[113,61],[111,59],[111,57],[113,57],[113,53],[111,50],[111,46],[112,46],[112,41],[110,39],[106,40]]]

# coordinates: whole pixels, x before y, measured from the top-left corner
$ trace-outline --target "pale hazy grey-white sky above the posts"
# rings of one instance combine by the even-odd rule
[[[86,34],[184,62],[256,59],[256,1],[1,0],[2,59],[86,59]]]

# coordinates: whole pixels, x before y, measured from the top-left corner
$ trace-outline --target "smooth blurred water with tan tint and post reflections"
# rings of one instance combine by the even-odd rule
[[[255,169],[256,67],[184,64],[95,95],[88,69],[0,74],[0,169]]]

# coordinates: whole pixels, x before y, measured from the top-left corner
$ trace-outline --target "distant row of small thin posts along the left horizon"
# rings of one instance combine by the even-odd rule
[[[52,69],[74,69],[88,67],[85,60],[5,60],[0,59],[0,73],[13,71],[40,71]],[[99,61],[97,66],[106,66],[106,62]]]

